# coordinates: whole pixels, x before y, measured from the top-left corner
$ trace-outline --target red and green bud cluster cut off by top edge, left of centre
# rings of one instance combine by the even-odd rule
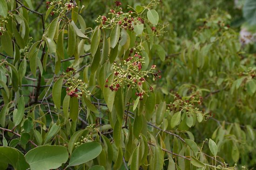
[[[55,0],[55,1],[47,1],[46,8],[54,7],[54,11],[51,12],[51,15],[55,13],[61,13],[62,16],[66,15],[66,12],[71,11],[74,7],[77,6],[75,0]]]

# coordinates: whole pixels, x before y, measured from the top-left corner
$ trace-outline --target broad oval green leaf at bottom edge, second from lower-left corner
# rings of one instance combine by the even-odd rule
[[[31,170],[56,169],[68,159],[67,149],[64,146],[43,145],[29,150],[25,155]]]

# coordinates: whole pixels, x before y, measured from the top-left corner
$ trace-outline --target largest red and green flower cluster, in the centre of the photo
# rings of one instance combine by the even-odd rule
[[[130,49],[128,59],[123,61],[123,64],[114,63],[114,82],[108,85],[108,79],[106,80],[106,88],[111,91],[118,91],[123,85],[131,86],[132,89],[136,89],[135,95],[143,99],[143,95],[147,92],[153,92],[153,88],[150,87],[148,91],[142,89],[142,84],[146,82],[148,74],[153,75],[153,81],[156,78],[161,78],[161,75],[155,73],[156,65],[152,65],[149,70],[143,71],[142,66],[145,64],[144,57],[141,57],[139,52],[134,52],[134,49]]]

